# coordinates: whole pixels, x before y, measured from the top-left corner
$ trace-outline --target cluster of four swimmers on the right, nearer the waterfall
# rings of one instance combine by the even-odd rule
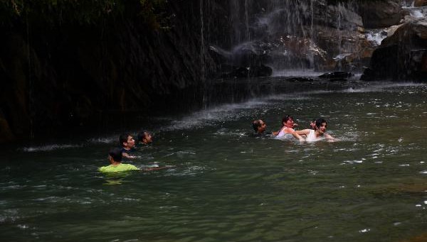
[[[255,133],[264,133],[267,125],[261,119],[255,120],[252,123]],[[329,141],[337,141],[337,138],[326,133],[327,121],[319,118],[310,122],[310,128],[295,130],[297,123],[290,115],[286,115],[282,119],[282,127],[279,131],[272,132],[271,135],[275,138],[297,138],[299,141],[320,141],[326,139]]]

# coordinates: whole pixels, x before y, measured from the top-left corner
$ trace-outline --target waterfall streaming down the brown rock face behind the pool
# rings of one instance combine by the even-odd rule
[[[246,0],[243,4],[231,1],[233,47],[228,51],[211,46],[228,66],[267,65],[275,72],[337,70],[343,56],[347,57],[340,54],[359,51],[357,31],[362,18],[355,13],[355,1],[334,6],[326,0]]]

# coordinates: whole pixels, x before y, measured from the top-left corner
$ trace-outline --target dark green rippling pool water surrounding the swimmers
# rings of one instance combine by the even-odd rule
[[[117,133],[1,156],[1,241],[408,241],[427,231],[427,86],[276,94],[159,117],[139,167],[106,177]],[[324,116],[341,141],[253,136]]]

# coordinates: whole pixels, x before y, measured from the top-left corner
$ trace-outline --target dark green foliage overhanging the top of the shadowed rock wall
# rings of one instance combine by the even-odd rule
[[[165,0],[0,0],[0,24],[91,25],[107,18],[139,16],[152,28],[162,28],[165,6]]]

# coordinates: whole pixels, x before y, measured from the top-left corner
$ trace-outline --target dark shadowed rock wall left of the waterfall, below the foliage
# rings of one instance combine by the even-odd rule
[[[201,4],[209,18],[201,17]],[[171,1],[166,29],[132,11],[97,24],[45,26],[21,18],[1,26],[0,142],[90,126],[105,113],[199,102],[201,94],[176,98],[199,90],[215,70],[201,42],[229,36],[224,5]]]

